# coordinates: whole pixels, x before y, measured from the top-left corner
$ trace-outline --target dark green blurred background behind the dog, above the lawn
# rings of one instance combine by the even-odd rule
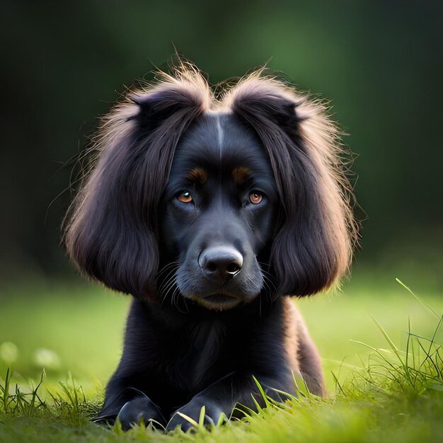
[[[69,159],[125,86],[166,68],[174,46],[212,83],[268,62],[330,99],[357,155],[367,214],[358,262],[393,272],[403,263],[442,282],[443,2],[0,5],[4,282],[74,275],[59,248]]]

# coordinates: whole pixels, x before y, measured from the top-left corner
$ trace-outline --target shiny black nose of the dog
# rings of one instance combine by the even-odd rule
[[[200,254],[198,264],[207,277],[223,282],[241,270],[243,255],[229,246],[214,246]]]

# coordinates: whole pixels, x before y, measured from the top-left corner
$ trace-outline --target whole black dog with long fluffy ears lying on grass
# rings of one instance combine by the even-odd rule
[[[167,430],[295,393],[321,364],[287,295],[330,287],[355,229],[325,109],[255,73],[214,97],[197,69],[105,117],[65,234],[87,275],[134,301],[97,420]]]

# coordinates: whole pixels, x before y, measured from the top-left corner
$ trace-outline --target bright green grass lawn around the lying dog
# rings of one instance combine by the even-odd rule
[[[362,276],[343,293],[297,301],[323,357],[328,397],[271,402],[192,435],[88,421],[120,355],[127,297],[54,284],[2,298],[0,442],[443,441],[442,294],[417,300],[393,280]]]

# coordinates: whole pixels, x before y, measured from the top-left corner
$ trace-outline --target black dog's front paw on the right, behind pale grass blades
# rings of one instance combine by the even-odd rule
[[[166,425],[166,432],[180,427],[183,432],[188,431],[191,427],[195,427],[195,423],[200,422],[200,415],[202,408],[205,407],[205,416],[203,425],[214,426],[217,425],[222,417],[226,417],[219,404],[215,403],[210,398],[192,398],[192,400],[184,405],[182,408],[176,410]]]

